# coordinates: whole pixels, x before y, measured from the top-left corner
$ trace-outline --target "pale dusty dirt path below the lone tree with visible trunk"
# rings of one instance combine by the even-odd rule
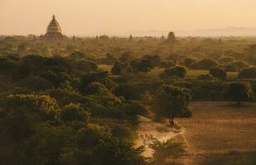
[[[167,141],[167,139],[179,139],[186,141],[185,132],[186,130],[183,127],[173,127],[169,125],[154,122],[152,119],[147,117],[140,116],[141,124],[138,129],[138,139],[135,142],[136,147],[145,146],[145,152],[142,153],[143,156],[149,158],[152,157],[152,149],[147,146],[147,137],[153,136],[160,141]]]

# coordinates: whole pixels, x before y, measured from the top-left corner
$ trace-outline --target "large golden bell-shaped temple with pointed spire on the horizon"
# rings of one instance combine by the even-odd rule
[[[52,20],[47,27],[46,35],[44,35],[44,38],[49,40],[61,40],[66,38],[66,36],[62,35],[61,33],[61,28],[58,21],[56,21],[55,15],[52,16]]]

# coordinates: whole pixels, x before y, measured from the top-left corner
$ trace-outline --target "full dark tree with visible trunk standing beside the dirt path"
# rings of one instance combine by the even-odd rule
[[[163,85],[155,96],[157,115],[167,117],[170,125],[174,125],[176,117],[191,116],[188,108],[190,99],[191,93],[186,88]]]

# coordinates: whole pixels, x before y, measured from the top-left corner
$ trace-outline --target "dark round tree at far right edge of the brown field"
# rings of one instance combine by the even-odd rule
[[[246,83],[231,82],[225,87],[224,97],[240,105],[241,101],[247,101],[252,97],[252,88]]]

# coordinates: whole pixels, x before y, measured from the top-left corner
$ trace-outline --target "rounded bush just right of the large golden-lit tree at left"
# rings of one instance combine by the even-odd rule
[[[63,121],[84,121],[89,123],[89,112],[85,111],[80,104],[70,103],[60,111],[60,120]]]

